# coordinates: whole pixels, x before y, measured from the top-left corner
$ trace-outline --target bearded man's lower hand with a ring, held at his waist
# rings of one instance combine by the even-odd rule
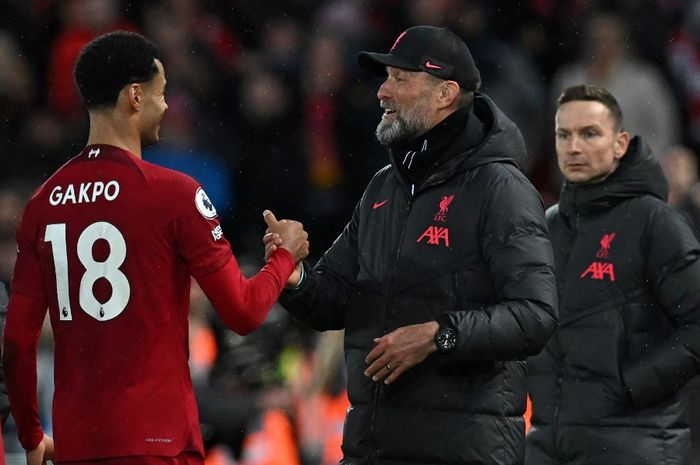
[[[382,337],[374,339],[374,349],[367,354],[369,365],[365,376],[372,381],[384,380],[385,384],[395,381],[409,368],[419,364],[437,347],[433,340],[439,325],[436,321],[402,326]]]

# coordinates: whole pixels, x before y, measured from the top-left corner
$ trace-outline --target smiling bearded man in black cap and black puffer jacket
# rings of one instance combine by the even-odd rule
[[[312,328],[345,329],[341,463],[520,464],[522,360],[557,325],[544,208],[514,161],[522,136],[448,29],[412,27],[359,63],[386,76],[376,135],[391,164],[281,298]]]

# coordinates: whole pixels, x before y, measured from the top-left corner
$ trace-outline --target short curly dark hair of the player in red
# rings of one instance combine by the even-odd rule
[[[90,41],[80,52],[73,75],[88,109],[114,107],[119,92],[132,82],[158,74],[158,48],[135,32],[115,31]]]

